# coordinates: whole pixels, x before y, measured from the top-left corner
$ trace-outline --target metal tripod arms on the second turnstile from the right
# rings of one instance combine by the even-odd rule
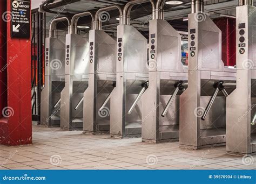
[[[226,86],[229,86],[229,85],[231,85],[231,84],[232,84],[232,86],[233,86],[233,83],[230,83],[230,84],[228,84],[228,85],[226,85]],[[234,84],[235,84],[235,83],[234,83]],[[212,97],[211,97],[211,100],[210,100],[209,103],[207,104],[207,107],[206,107],[206,109],[205,109],[205,112],[204,112],[203,116],[201,117],[201,119],[202,119],[203,121],[205,121],[205,118],[206,118],[208,112],[210,111],[210,109],[211,109],[211,107],[212,107],[212,104],[213,104],[215,98],[217,97],[219,91],[221,91],[221,92],[224,94],[225,97],[228,97],[228,93],[227,93],[227,91],[225,90],[225,87],[224,87],[224,86],[225,86],[225,85],[224,85],[224,82],[223,82],[223,81],[219,81],[219,82],[217,82],[217,83],[214,84],[214,86],[213,86],[213,87],[215,88],[214,93],[213,93],[213,95],[212,95]]]

